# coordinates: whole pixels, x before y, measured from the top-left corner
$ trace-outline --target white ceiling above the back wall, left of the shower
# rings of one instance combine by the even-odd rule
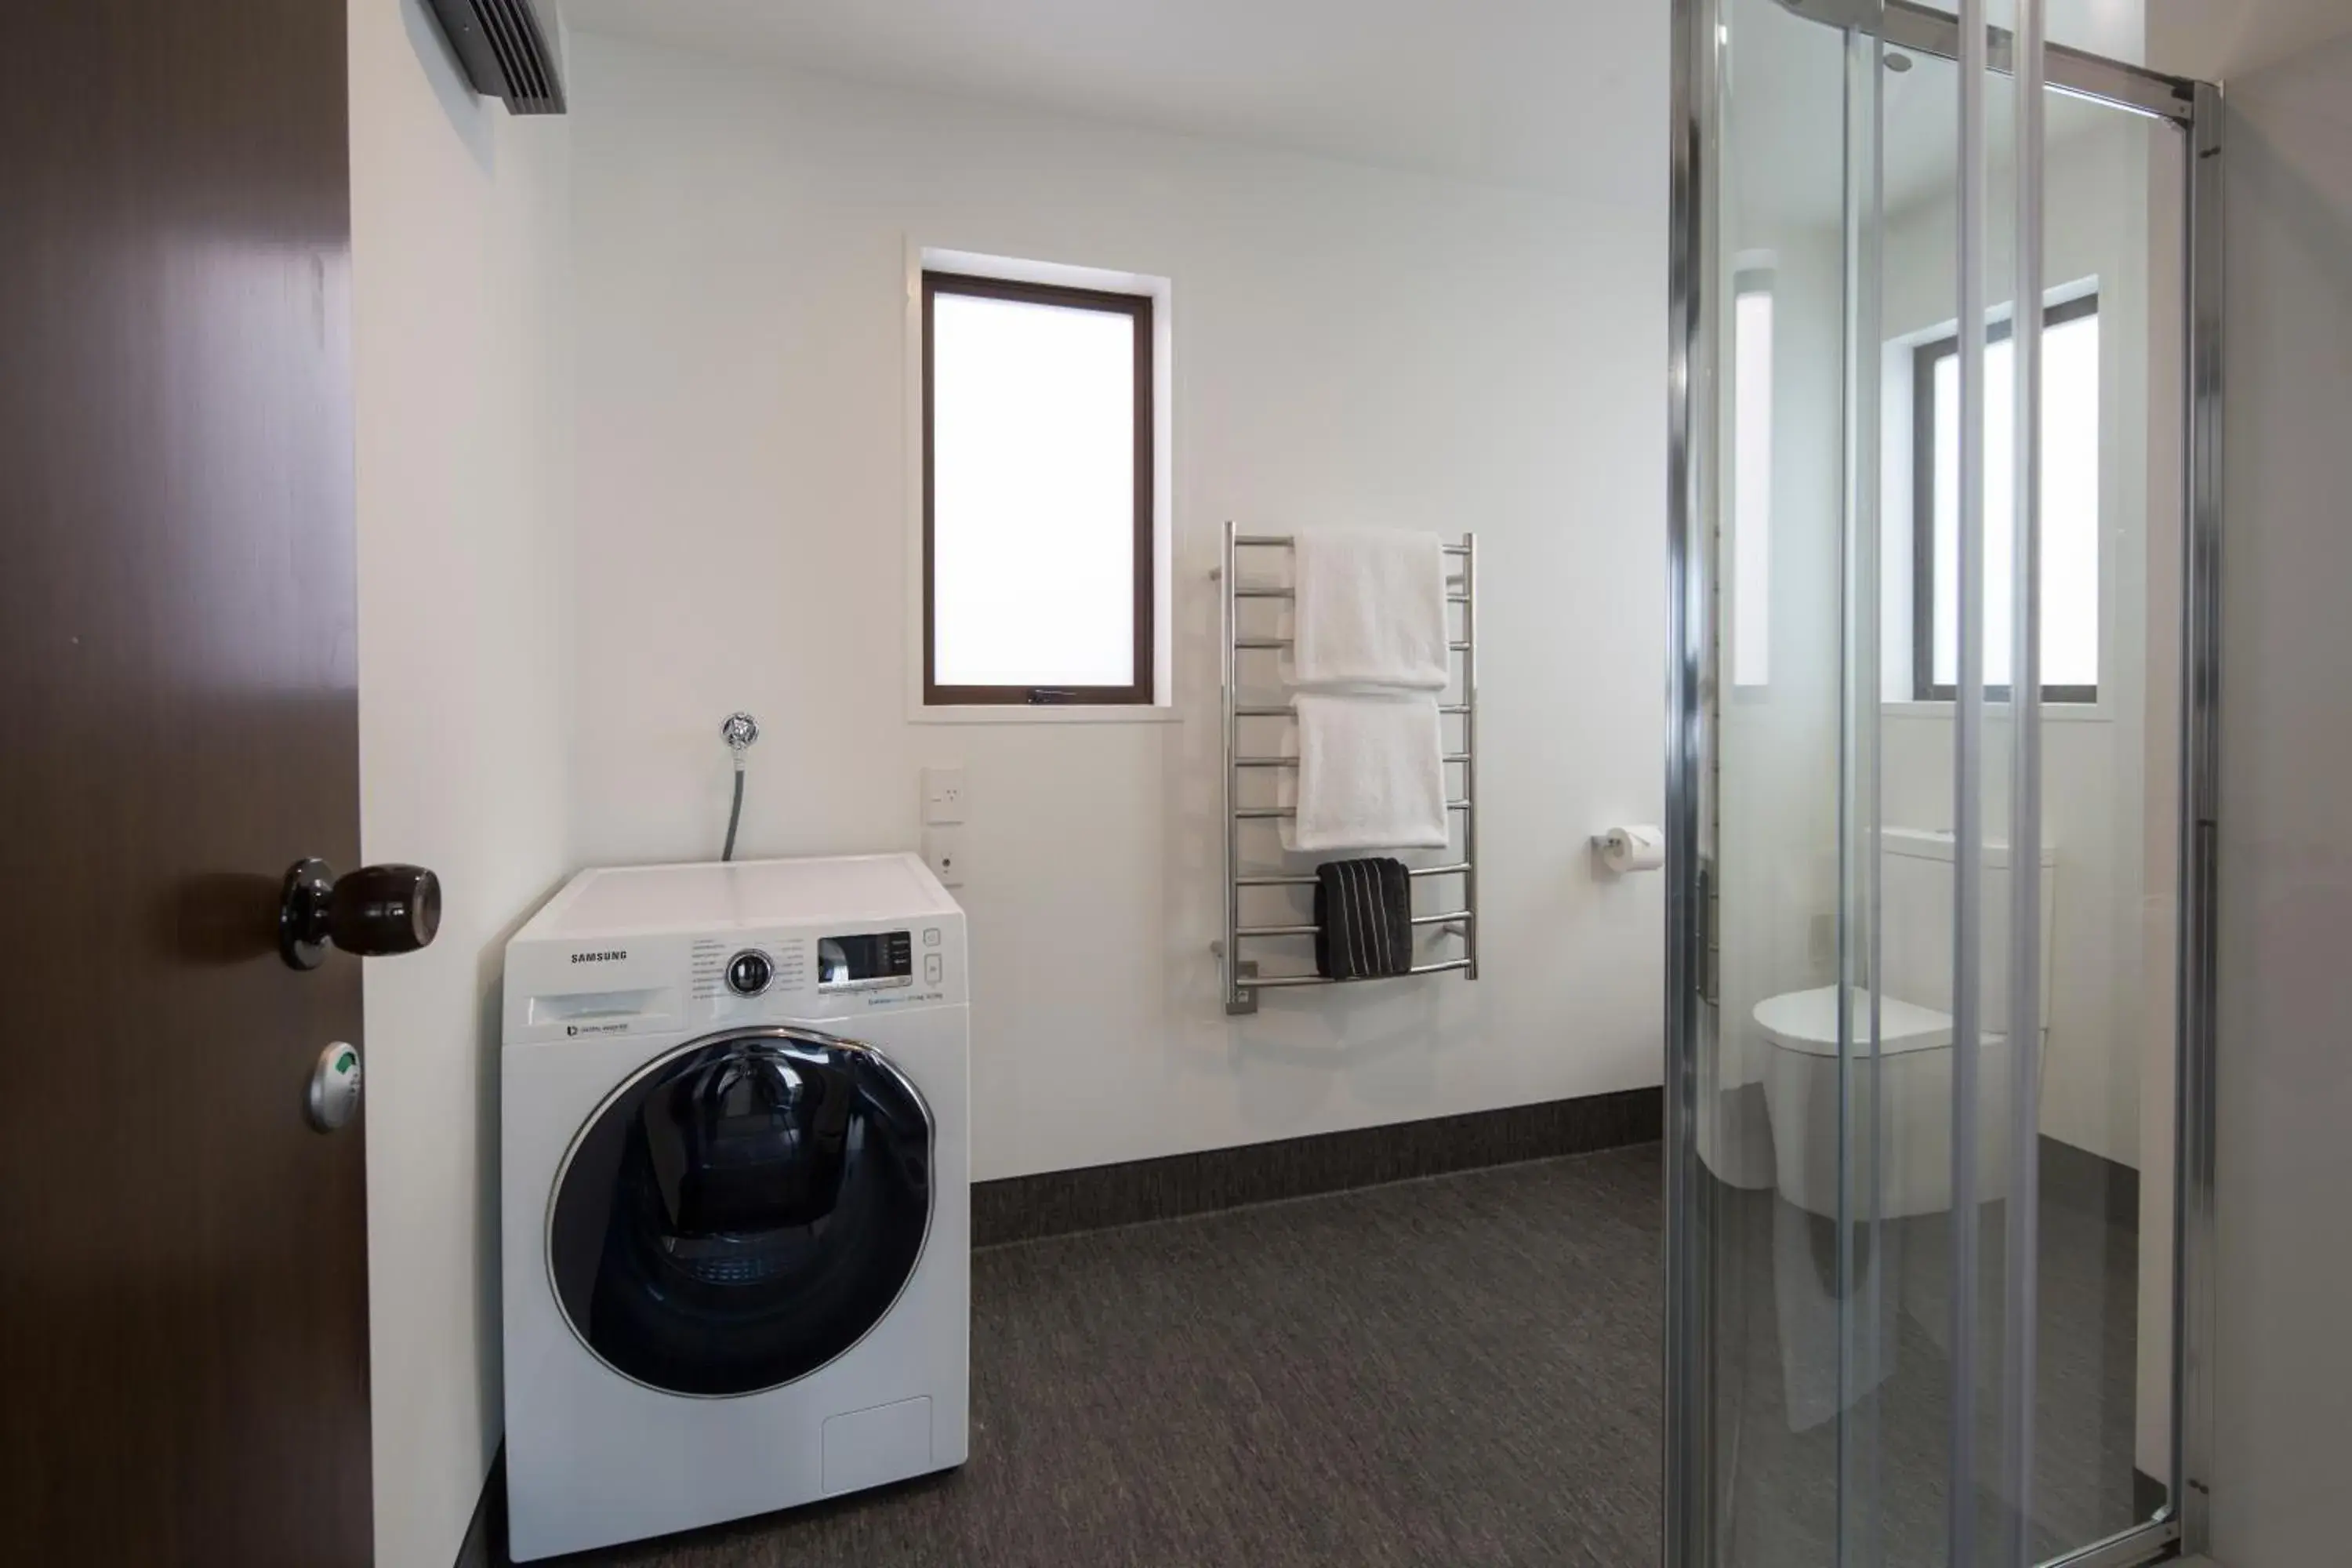
[[[1661,207],[1665,0],[562,0],[884,87]]]

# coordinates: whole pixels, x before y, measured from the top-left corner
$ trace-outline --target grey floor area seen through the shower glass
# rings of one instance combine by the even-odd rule
[[[1856,1319],[1872,1324],[1849,1436],[1856,1462],[1837,1486],[1835,1229],[1769,1192],[1715,1192],[1712,1234],[1724,1291],[1715,1307],[1722,1519],[1733,1563],[1797,1568],[1837,1561],[1837,1535],[1882,1568],[1943,1568],[1950,1542],[1952,1291],[1950,1215],[1889,1222],[1877,1258],[1853,1265]],[[1983,1488],[2002,1474],[2002,1314],[2009,1269],[2004,1206],[1983,1208],[1978,1239],[1978,1408],[1973,1462]],[[2136,1476],[2136,1227],[2089,1206],[2044,1201],[2037,1276],[2032,1561],[2143,1523],[2161,1488]],[[1978,1509],[1985,1552],[2002,1512]],[[1990,1561],[1990,1556],[1987,1556]]]

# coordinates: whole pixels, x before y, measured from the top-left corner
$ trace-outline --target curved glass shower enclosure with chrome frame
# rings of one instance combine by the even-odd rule
[[[1675,5],[1670,1568],[2201,1544],[2218,94],[2044,5]]]

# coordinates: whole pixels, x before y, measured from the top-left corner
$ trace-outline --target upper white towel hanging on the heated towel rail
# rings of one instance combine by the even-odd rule
[[[1298,529],[1291,679],[1444,691],[1446,557],[1435,534]]]

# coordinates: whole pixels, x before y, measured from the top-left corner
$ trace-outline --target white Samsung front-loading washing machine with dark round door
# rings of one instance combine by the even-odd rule
[[[515,933],[517,1561],[964,1462],[967,1016],[915,856],[590,870]]]

